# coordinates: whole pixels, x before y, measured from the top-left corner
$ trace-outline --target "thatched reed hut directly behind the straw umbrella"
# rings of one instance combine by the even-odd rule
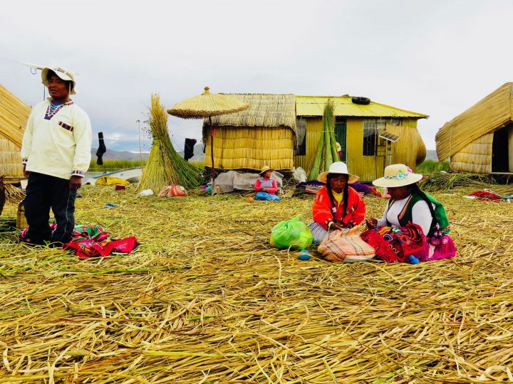
[[[247,110],[212,117],[214,164],[217,169],[260,171],[263,166],[287,171],[294,167],[296,97],[294,95],[230,94]],[[211,127],[204,119],[205,166],[212,166]]]

